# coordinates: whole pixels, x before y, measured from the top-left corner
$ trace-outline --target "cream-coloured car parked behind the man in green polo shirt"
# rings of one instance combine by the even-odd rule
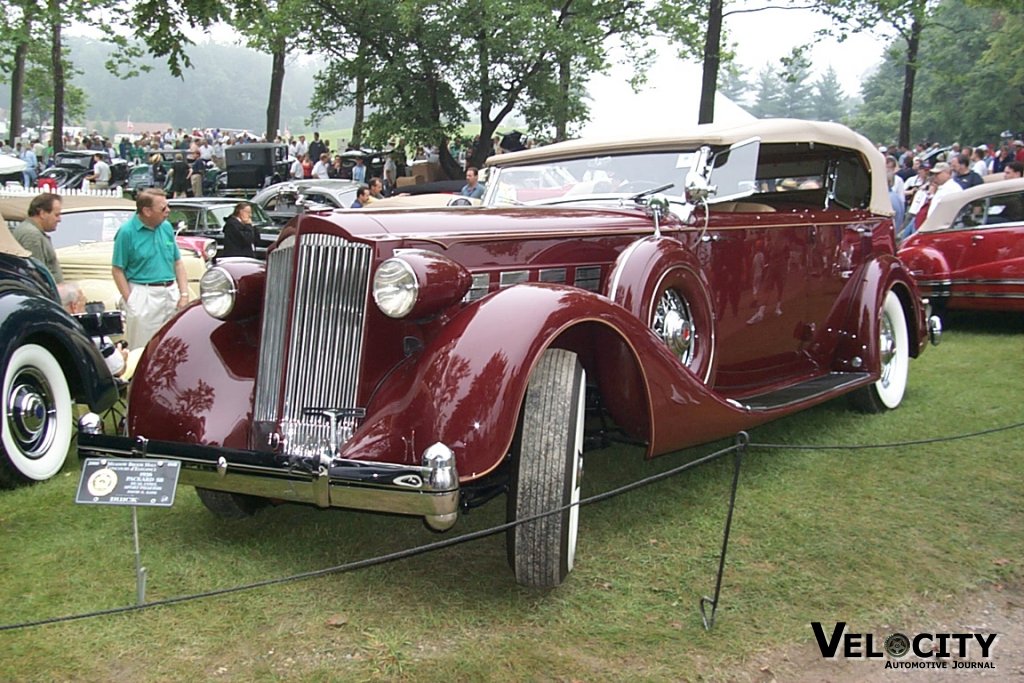
[[[13,227],[25,220],[33,195],[0,196],[0,214]],[[101,301],[106,310],[117,308],[117,286],[111,274],[114,237],[135,213],[135,202],[112,197],[61,197],[60,224],[50,233],[65,279],[77,281],[89,301]],[[199,281],[216,243],[197,236],[178,236],[178,248],[188,273],[189,292],[199,295]]]

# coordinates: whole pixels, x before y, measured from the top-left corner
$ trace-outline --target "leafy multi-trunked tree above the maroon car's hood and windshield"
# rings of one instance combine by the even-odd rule
[[[319,0],[318,7],[334,34],[314,116],[354,102],[362,75],[367,139],[434,144],[450,176],[461,174],[447,142],[470,120],[467,105],[481,141],[467,164],[479,166],[484,141],[513,112],[527,108],[566,130],[584,111],[587,78],[607,68],[610,42],[642,63],[653,31],[641,0],[396,0],[384,9]],[[366,55],[379,66],[368,71]]]

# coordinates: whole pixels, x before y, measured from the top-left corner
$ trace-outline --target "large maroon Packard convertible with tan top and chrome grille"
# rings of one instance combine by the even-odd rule
[[[653,457],[841,395],[899,405],[930,330],[885,177],[843,126],[759,121],[503,155],[479,208],[300,215],[265,263],[207,272],[128,436],[84,416],[80,453],[180,460],[222,515],[444,530],[506,494],[516,580],[557,585],[588,410]]]

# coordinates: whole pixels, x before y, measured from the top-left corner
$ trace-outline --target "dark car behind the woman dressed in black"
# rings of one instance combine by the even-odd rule
[[[168,200],[171,209],[167,219],[178,239],[201,239],[204,241],[204,256],[213,260],[224,246],[224,221],[234,211],[238,200],[225,197],[200,197],[188,200]],[[252,204],[252,203],[250,203]],[[256,245],[257,257],[266,257],[266,248],[278,239],[281,226],[276,225],[259,206],[252,205],[253,227],[259,233]]]

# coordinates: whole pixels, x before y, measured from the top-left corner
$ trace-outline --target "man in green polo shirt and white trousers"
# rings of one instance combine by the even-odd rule
[[[162,189],[144,189],[114,238],[112,272],[125,304],[125,337],[139,348],[188,304],[188,278]]]

